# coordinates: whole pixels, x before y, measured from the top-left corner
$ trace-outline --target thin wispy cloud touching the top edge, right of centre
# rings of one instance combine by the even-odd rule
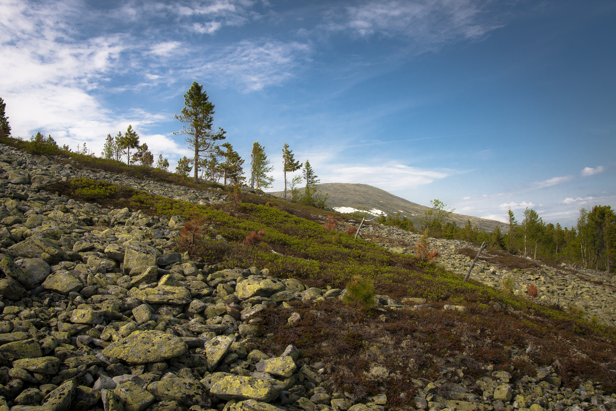
[[[422,48],[445,41],[479,38],[495,25],[481,22],[484,12],[471,0],[369,1],[330,10],[326,29],[354,36],[402,36]]]

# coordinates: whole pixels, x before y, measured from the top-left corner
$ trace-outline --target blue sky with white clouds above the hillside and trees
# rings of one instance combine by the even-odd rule
[[[0,0],[13,136],[100,153],[129,124],[174,168],[193,81],[249,163],[456,213],[575,224],[616,206],[612,0]]]

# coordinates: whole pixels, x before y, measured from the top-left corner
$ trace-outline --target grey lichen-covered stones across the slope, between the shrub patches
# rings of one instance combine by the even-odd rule
[[[335,391],[326,383],[330,364],[305,364],[294,346],[278,357],[250,349],[259,336],[259,313],[268,307],[288,308],[291,300],[326,303],[345,290],[307,288],[270,277],[266,268],[221,270],[172,250],[171,239],[184,226],[179,216],[108,210],[45,190],[75,177],[123,178],[136,189],[193,203],[226,200],[213,191],[80,171],[0,145],[0,411],[389,409],[384,394],[357,399]],[[389,228],[372,230],[411,240]],[[453,251],[460,242],[433,241],[444,264],[455,270],[466,264]],[[474,277],[498,282],[497,272],[485,269]],[[540,290],[559,293],[546,293],[544,300],[562,291],[561,301],[613,307],[606,287],[586,290],[588,283],[575,275],[564,277],[561,287],[557,271],[543,271],[537,279],[528,275]],[[609,301],[599,299],[604,293]],[[423,299],[378,300],[397,309],[430,309]],[[605,307],[598,311],[601,319]],[[291,325],[299,321],[297,313],[288,318]],[[481,395],[445,380],[413,380],[417,393],[409,400],[416,409],[433,411],[607,411],[616,404],[596,383],[563,388],[549,367],[510,378],[486,373],[476,381]]]

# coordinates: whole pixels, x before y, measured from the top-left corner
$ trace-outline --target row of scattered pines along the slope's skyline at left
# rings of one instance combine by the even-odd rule
[[[0,98],[0,139],[10,136],[10,125],[5,115],[6,104]],[[208,94],[203,90],[203,85],[196,81],[184,94],[184,108],[174,118],[182,123],[182,129],[173,134],[184,136],[187,148],[193,152],[188,158],[183,156],[177,160],[174,169],[179,179],[191,179],[193,184],[222,184],[232,190],[241,190],[243,187],[264,190],[274,184],[274,178],[269,174],[274,170],[265,147],[259,142],[254,142],[249,165],[249,176],[245,176],[243,165],[245,160],[233,149],[233,145],[225,141],[227,132],[222,128],[214,127],[214,104],[209,101]],[[97,158],[95,153],[86,147],[86,144],[76,147],[75,152],[63,145],[59,147],[51,135],[45,136],[37,132],[29,141],[17,137],[23,148],[28,152],[38,155],[57,155],[62,153],[76,153],[87,157]],[[299,163],[294,159],[293,150],[288,144],[282,147],[284,197],[290,201],[297,201],[306,205],[325,207],[328,195],[318,192],[316,185],[318,176],[310,162]],[[100,153],[100,160],[126,165],[128,167],[139,166],[140,168],[160,169],[169,173],[169,160],[162,154],[155,159],[147,144],[140,144],[139,135],[129,124],[124,132],[115,135],[107,134]],[[156,160],[156,161],[155,161]],[[303,167],[303,168],[302,168]],[[297,171],[301,174],[294,175]],[[304,192],[299,191],[299,186],[305,185]]]

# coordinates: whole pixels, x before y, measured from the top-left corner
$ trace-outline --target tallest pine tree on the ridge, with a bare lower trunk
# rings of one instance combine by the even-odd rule
[[[218,128],[212,131],[214,125],[214,104],[209,102],[208,94],[203,90],[203,84],[193,81],[190,89],[184,94],[184,108],[180,115],[174,117],[184,123],[181,131],[173,134],[185,134],[188,148],[195,151],[192,163],[195,166],[195,184],[198,181],[198,165],[216,147],[216,141],[224,140],[225,131]]]

